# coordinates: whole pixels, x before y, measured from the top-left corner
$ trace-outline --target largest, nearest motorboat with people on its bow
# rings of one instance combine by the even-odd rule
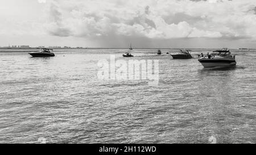
[[[224,48],[221,51],[213,51],[208,56],[200,57],[198,60],[204,68],[214,68],[223,66],[236,66],[236,55],[231,55],[228,48]]]

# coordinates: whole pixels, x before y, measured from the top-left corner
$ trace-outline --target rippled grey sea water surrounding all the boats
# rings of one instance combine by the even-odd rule
[[[98,61],[124,52],[0,52],[0,143],[256,143],[254,51],[204,69],[135,50],[131,59],[159,60],[159,85],[98,79]]]

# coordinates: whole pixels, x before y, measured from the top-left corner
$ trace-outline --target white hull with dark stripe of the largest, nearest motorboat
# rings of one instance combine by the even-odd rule
[[[214,60],[214,59],[199,59],[199,62],[204,66],[204,68],[214,68],[214,67],[225,67],[225,66],[236,66],[236,60]]]

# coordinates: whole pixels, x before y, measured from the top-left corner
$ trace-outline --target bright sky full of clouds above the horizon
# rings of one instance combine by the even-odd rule
[[[0,0],[0,46],[256,48],[256,0]]]

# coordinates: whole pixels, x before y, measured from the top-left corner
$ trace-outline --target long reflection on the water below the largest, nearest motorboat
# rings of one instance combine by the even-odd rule
[[[230,105],[236,103],[233,75],[239,68],[210,68],[198,72],[201,79],[198,90],[202,97],[200,115],[207,120],[204,132],[215,136],[217,143],[232,143],[232,124],[240,123],[239,120],[230,118],[230,115],[236,112]]]

